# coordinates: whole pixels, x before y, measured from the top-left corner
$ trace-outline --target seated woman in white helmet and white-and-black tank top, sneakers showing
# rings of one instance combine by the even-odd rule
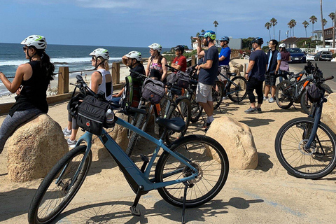
[[[109,51],[104,48],[97,48],[90,53],[92,56],[92,66],[97,71],[91,75],[90,89],[95,93],[102,93],[106,100],[111,101],[113,84],[112,76],[109,71]],[[70,148],[76,145],[76,135],[78,132],[78,125],[76,119],[73,119],[70,114],[68,118],[68,127],[63,130],[64,136],[69,137],[66,141]]]

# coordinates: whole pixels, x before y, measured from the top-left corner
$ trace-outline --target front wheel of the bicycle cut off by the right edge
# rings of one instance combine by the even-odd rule
[[[336,136],[324,123],[318,124],[311,148],[304,149],[312,125],[313,118],[295,118],[280,128],[275,139],[276,157],[283,168],[304,179],[319,179],[336,166]]]

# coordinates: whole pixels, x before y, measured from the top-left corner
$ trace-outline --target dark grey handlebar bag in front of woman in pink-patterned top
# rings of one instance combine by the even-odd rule
[[[165,84],[159,80],[146,78],[142,87],[142,97],[153,104],[160,103],[165,95]]]

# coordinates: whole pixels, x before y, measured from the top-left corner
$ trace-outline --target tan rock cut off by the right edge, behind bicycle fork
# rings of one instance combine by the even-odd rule
[[[328,96],[328,101],[323,104],[321,121],[336,133],[336,93]]]

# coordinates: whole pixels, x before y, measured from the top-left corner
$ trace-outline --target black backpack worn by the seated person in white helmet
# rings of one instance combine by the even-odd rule
[[[143,81],[141,78],[134,76],[127,76],[126,85],[123,92],[123,96],[120,99],[120,105],[122,108],[135,107],[137,108],[141,99],[141,87]]]

